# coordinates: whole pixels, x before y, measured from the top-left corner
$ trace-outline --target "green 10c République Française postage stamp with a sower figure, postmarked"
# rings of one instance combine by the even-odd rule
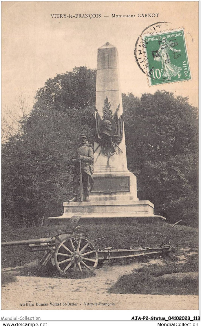
[[[191,79],[184,30],[143,35],[150,85]]]

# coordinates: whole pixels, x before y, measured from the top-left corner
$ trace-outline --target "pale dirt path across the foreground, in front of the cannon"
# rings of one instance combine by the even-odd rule
[[[150,263],[160,263],[160,259]],[[119,276],[129,274],[133,269],[144,265],[146,264],[133,263],[126,266],[104,267],[96,269],[96,275],[93,277],[76,280],[17,276],[16,282],[2,286],[2,309],[198,310],[198,296],[194,295],[108,293],[109,287]]]

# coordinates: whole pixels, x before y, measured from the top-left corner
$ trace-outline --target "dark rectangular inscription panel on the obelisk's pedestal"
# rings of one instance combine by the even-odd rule
[[[130,177],[94,177],[93,193],[130,192]]]

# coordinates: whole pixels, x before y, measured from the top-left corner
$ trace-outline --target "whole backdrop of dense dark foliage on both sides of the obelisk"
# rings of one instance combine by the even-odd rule
[[[69,159],[80,133],[93,142],[96,71],[76,67],[48,79],[21,131],[2,146],[2,223],[40,225],[71,196]],[[187,98],[157,91],[122,95],[128,168],[138,197],[168,221],[197,224],[198,120]]]

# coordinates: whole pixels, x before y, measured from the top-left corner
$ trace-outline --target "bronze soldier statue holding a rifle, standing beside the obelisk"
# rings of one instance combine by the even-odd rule
[[[75,151],[71,163],[75,165],[73,177],[73,198],[69,202],[89,201],[93,187],[94,152],[85,135],[80,135],[81,146]]]

